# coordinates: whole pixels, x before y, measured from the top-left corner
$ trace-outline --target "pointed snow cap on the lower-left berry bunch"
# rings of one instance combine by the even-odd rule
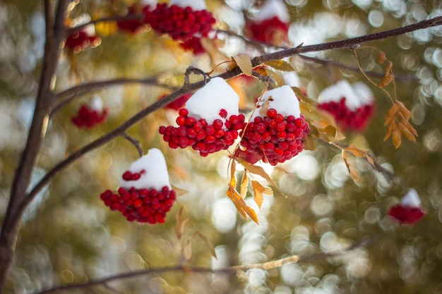
[[[141,174],[141,178],[138,180],[121,179],[121,187],[127,189],[134,187],[136,189],[155,188],[156,190],[161,190],[164,186],[167,186],[172,189],[169,182],[169,173],[167,173],[166,159],[160,149],[150,149],[148,154],[133,161],[129,171],[139,173],[143,169],[145,173]]]

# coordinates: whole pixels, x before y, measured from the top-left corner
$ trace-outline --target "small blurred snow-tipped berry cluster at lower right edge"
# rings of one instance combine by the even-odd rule
[[[407,194],[402,197],[400,204],[390,208],[388,214],[400,223],[413,224],[422,219],[425,212],[421,207],[421,200],[416,190],[410,189]]]

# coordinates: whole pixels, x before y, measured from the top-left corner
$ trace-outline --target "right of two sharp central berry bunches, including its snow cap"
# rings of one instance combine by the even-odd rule
[[[288,85],[275,88],[258,101],[242,135],[242,148],[236,155],[255,162],[262,159],[274,166],[301,152],[309,132],[292,88]]]

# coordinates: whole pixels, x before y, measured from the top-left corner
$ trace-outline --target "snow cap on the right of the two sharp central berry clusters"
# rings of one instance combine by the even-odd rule
[[[283,116],[292,115],[295,118],[299,118],[301,116],[301,111],[299,110],[299,101],[289,85],[284,85],[265,92],[263,97],[261,97],[256,104],[263,106],[263,104],[265,104],[270,97],[272,100],[269,100],[268,108],[276,109],[277,113],[282,114]],[[259,110],[260,109],[258,108],[253,112],[251,121],[253,121],[253,118],[256,116],[261,116]]]

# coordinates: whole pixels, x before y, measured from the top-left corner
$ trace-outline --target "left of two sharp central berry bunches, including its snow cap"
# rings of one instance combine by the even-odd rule
[[[232,87],[222,78],[213,78],[179,110],[178,126],[162,125],[160,134],[169,147],[192,147],[202,157],[227,149],[245,125],[238,103]]]

